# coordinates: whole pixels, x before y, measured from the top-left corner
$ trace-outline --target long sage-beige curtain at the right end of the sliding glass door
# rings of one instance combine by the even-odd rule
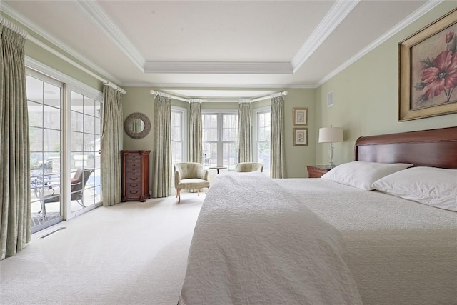
[[[122,94],[104,86],[103,131],[101,135],[101,181],[103,205],[121,202]]]

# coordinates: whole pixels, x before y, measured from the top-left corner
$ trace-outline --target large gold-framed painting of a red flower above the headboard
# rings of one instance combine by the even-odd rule
[[[399,44],[398,121],[457,113],[457,9]]]

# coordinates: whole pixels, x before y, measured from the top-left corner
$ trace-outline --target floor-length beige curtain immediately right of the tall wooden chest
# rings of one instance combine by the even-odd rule
[[[166,197],[171,186],[171,100],[156,96],[154,104],[152,197]]]

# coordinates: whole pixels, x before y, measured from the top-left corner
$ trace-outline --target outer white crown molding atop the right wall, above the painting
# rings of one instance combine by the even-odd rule
[[[426,4],[421,6],[419,9],[413,12],[413,14],[409,15],[406,19],[403,19],[401,22],[396,24],[396,26],[393,26],[392,29],[388,30],[386,33],[384,33],[382,36],[380,36],[378,39],[373,41],[373,43],[369,44],[366,46],[365,49],[362,51],[358,52],[354,56],[352,56],[350,59],[348,59],[346,62],[344,62],[341,66],[338,66],[335,70],[331,71],[330,74],[326,75],[323,79],[318,81],[316,83],[316,88],[318,86],[321,86],[324,84],[326,81],[331,79],[333,76],[336,76],[336,74],[340,73],[344,69],[346,69],[348,66],[351,66],[351,64],[355,63],[358,61],[358,59],[361,59],[363,56],[368,54],[368,52],[372,51],[373,49],[376,48],[376,46],[379,46],[382,44],[384,41],[387,39],[391,38],[393,35],[397,34],[399,31],[402,29],[406,28],[409,24],[411,24],[413,21],[416,21],[418,18],[426,14],[428,11],[433,9],[435,6],[443,2],[444,0],[434,0],[434,1],[428,1]]]

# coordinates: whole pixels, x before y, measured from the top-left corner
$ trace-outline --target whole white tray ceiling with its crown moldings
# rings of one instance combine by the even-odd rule
[[[1,0],[0,7],[119,86],[256,98],[316,88],[439,3]]]

